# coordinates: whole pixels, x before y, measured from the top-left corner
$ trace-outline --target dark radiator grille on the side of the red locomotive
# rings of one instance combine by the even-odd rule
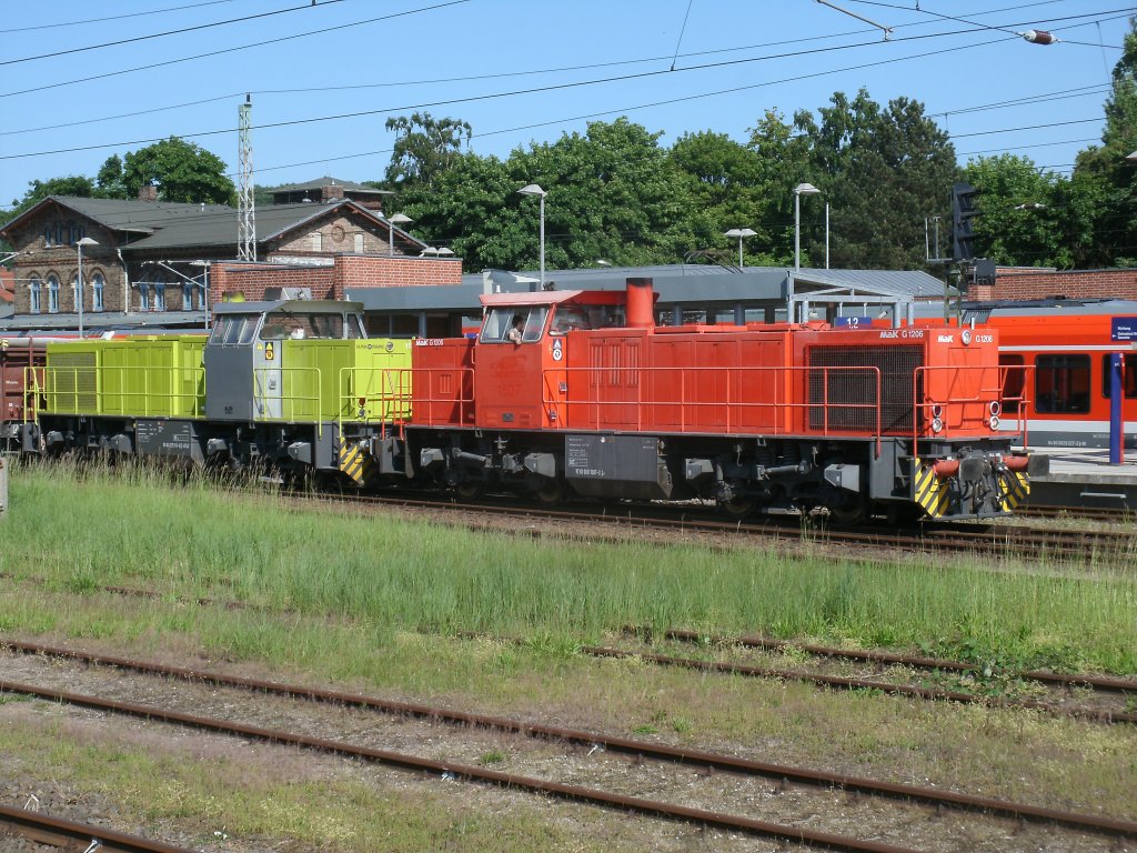
[[[807,361],[810,429],[875,432],[877,372],[858,368],[877,367],[881,432],[912,431],[912,372],[923,347],[811,347]]]

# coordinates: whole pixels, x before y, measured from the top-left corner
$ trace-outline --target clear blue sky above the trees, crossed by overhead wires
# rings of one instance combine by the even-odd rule
[[[704,130],[745,141],[767,109],[815,111],[862,86],[880,103],[921,101],[961,163],[1005,151],[1069,172],[1101,140],[1109,73],[1137,15],[1118,0],[833,3],[8,2],[0,204],[168,135],[213,151],[235,180],[246,92],[259,184],[381,179],[384,122],[415,110],[467,121],[472,149],[504,157],[620,115],[665,144]],[[891,27],[889,39],[847,13]],[[1061,41],[1015,35],[1031,28]]]

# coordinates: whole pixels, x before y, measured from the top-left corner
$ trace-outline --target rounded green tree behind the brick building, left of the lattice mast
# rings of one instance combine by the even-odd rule
[[[109,166],[110,160],[103,164],[103,168]],[[142,187],[155,185],[163,201],[236,204],[236,188],[225,176],[224,160],[177,136],[127,154],[122,183],[126,198],[136,198]]]

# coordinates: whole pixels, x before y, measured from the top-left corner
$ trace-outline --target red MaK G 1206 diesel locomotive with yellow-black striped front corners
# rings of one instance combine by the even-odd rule
[[[400,448],[458,495],[715,500],[972,517],[1026,498],[990,330],[656,326],[626,292],[482,297],[476,340],[422,340]]]

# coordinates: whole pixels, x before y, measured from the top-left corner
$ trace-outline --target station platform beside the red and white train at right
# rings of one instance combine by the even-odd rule
[[[1049,457],[1051,470],[1031,479],[1031,504],[1137,512],[1137,450],[1126,450],[1119,465],[1110,463],[1107,448],[1047,447],[1035,453]]]

